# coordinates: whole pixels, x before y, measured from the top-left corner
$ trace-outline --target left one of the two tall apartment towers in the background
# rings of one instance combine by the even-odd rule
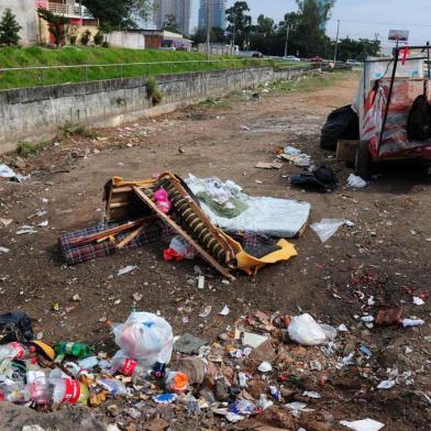
[[[154,24],[156,29],[162,29],[166,15],[174,15],[179,31],[190,34],[190,9],[191,0],[155,0],[154,1]]]

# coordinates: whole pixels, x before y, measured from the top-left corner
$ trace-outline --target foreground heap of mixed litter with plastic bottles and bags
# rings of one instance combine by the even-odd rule
[[[208,343],[191,334],[174,336],[164,318],[132,311],[124,323],[110,324],[119,347],[111,357],[84,342],[51,347],[34,340],[24,313],[0,316],[0,400],[44,411],[58,405],[102,406],[114,429],[156,421],[156,429],[165,430],[169,423],[158,413],[170,405],[174,416],[211,418],[205,419],[209,429],[219,421],[242,429],[329,430],[334,418],[321,413],[319,404],[336,399],[338,373],[354,365],[362,378],[378,382],[371,372],[372,353],[360,343],[349,347],[345,325],[335,329],[307,313],[257,311]],[[409,384],[412,375],[391,378],[391,386]],[[360,429],[356,422],[341,423]]]

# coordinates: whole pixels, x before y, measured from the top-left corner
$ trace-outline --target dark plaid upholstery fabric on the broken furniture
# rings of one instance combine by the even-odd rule
[[[117,228],[119,223],[106,223],[101,222],[92,228],[82,229],[66,233],[58,239],[58,245],[62,251],[63,257],[68,265],[76,265],[82,262],[92,261],[97,257],[109,256],[115,253],[115,245],[110,241],[103,241],[102,243],[90,243],[85,245],[70,244],[70,240],[78,236],[88,236],[95,233],[106,231],[107,229]],[[115,241],[120,242],[123,237],[128,236],[131,231],[125,231],[115,235]],[[139,236],[124,246],[124,248],[133,248],[141,245],[150,244],[159,241],[164,237],[169,237],[174,234],[174,231],[166,224],[156,221],[150,226],[145,228]]]

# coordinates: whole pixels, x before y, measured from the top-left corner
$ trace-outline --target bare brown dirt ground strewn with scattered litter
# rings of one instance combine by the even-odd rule
[[[430,430],[431,406],[424,394],[431,391],[431,300],[415,306],[406,288],[420,294],[431,289],[431,176],[415,168],[379,167],[365,189],[346,187],[352,169],[319,147],[319,134],[329,112],[347,104],[356,86],[357,78],[347,77],[316,91],[269,91],[259,99],[239,92],[214,106],[98,130],[97,137],[54,140],[36,157],[25,159],[29,180],[0,181],[0,218],[13,219],[9,226],[0,223],[0,246],[10,248],[0,255],[0,312],[26,311],[38,320],[48,342],[81,340],[109,352],[113,343],[106,320],[124,321],[133,306],[158,310],[176,334],[190,332],[208,341],[256,310],[309,312],[335,327],[346,324],[372,351],[374,367],[413,373],[411,385],[400,383],[390,390],[369,389],[372,384],[358,374],[346,376],[344,385],[334,388],[335,397],[318,400],[319,408],[336,421],[369,417],[385,423],[385,430]],[[301,169],[288,163],[280,170],[254,167],[273,161],[277,146],[286,144],[310,154],[317,165],[332,167],[338,189],[312,194],[290,187],[287,176]],[[109,178],[147,178],[165,170],[232,179],[248,195],[305,200],[312,206],[310,223],[338,218],[354,226],[341,228],[327,244],[307,229],[292,240],[297,257],[268,266],[255,278],[237,274],[230,285],[202,262],[164,262],[166,244],[64,265],[57,237],[101,220],[102,189]],[[47,213],[33,217],[42,210]],[[48,225],[36,226],[37,233],[16,235],[19,226],[44,220]],[[188,283],[197,263],[207,272],[203,290]],[[137,268],[117,276],[126,265]],[[362,306],[355,283],[365,278],[367,291],[376,298],[372,313],[401,303],[405,317],[424,319],[426,324],[367,330],[354,318]],[[143,295],[137,303],[135,292]],[[73,300],[76,294],[80,301]],[[58,310],[53,308],[56,302]],[[198,314],[208,305],[216,312],[228,305],[231,312],[203,320]],[[185,316],[189,323],[183,323]],[[361,393],[361,385],[369,390]]]

